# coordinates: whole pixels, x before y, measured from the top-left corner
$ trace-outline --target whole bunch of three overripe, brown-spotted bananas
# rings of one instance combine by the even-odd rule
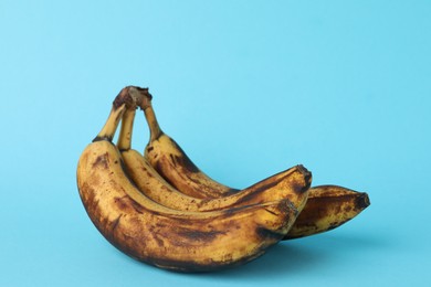
[[[335,228],[369,205],[364,192],[311,187],[312,173],[303,166],[241,190],[219,183],[162,132],[151,99],[148,88],[123,88],[76,172],[94,225],[138,261],[177,272],[236,266],[280,241]],[[144,155],[132,148],[137,108],[150,130]]]

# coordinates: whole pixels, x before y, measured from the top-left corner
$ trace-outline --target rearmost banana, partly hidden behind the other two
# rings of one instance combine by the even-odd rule
[[[156,118],[151,98],[143,100],[143,109],[150,129],[150,139],[145,148],[147,161],[180,192],[199,199],[232,196],[240,192],[227,187],[202,172],[180,148],[166,135]],[[358,215],[370,204],[368,194],[337,185],[312,187],[308,200],[295,224],[284,240],[304,237],[333,230]]]

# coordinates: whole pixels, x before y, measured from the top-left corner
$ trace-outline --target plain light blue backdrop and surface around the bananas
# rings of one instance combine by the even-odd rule
[[[2,0],[0,286],[429,286],[430,15],[430,1]],[[303,163],[371,206],[227,272],[124,256],[75,170],[130,84],[217,180]],[[139,113],[134,147],[147,140]]]

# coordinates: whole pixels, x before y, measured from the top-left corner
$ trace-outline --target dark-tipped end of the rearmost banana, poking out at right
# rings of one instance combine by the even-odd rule
[[[297,216],[286,240],[309,236],[334,230],[370,205],[368,194],[338,185],[311,189],[307,204]]]

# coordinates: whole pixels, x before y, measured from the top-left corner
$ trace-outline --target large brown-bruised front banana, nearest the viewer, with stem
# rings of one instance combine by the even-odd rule
[[[288,200],[185,212],[162,206],[137,190],[112,139],[124,111],[136,108],[139,95],[146,93],[137,87],[124,88],[105,126],[78,160],[80,196],[104,237],[138,261],[178,272],[244,264],[283,238],[297,215]]]

